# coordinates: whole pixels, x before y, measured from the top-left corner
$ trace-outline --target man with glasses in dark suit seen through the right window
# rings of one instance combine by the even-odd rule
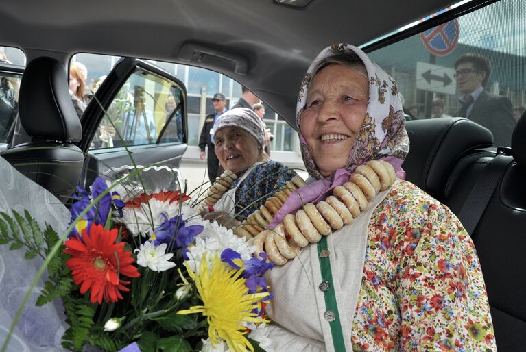
[[[495,146],[510,146],[515,121],[512,102],[492,95],[484,86],[490,77],[490,62],[481,55],[466,53],[455,61],[457,91],[461,108],[457,116],[483,125],[493,134]]]

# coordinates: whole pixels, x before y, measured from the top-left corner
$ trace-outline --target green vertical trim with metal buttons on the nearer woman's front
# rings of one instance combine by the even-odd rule
[[[322,284],[320,290],[324,291],[325,309],[324,318],[328,321],[331,327],[331,335],[333,336],[333,344],[335,351],[345,351],[344,332],[342,331],[342,323],[339,320],[338,305],[336,303],[336,295],[333,285],[333,272],[331,271],[331,260],[329,259],[331,253],[327,248],[327,236],[322,236],[318,242],[318,259],[320,260],[320,269],[322,272]],[[328,288],[327,288],[328,284]],[[324,285],[324,289],[322,289]]]

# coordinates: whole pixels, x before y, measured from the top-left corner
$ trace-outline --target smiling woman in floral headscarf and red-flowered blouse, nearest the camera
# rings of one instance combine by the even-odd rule
[[[356,47],[328,47],[302,82],[297,121],[317,181],[270,227],[369,160],[389,162],[398,179],[352,223],[270,272],[276,351],[496,350],[473,242],[446,206],[403,180],[409,140],[394,80]]]

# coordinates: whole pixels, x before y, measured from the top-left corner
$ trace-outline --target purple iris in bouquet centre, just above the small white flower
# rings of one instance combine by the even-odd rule
[[[154,244],[157,246],[161,243],[168,244],[168,250],[180,249],[183,251],[193,243],[195,236],[200,234],[204,227],[201,225],[187,226],[181,216],[167,218],[163,214],[165,221],[159,227],[154,229]]]

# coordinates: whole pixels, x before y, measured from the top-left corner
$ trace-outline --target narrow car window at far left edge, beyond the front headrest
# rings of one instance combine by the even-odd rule
[[[25,55],[18,48],[0,47],[0,143],[9,143],[18,112],[19,88]]]

